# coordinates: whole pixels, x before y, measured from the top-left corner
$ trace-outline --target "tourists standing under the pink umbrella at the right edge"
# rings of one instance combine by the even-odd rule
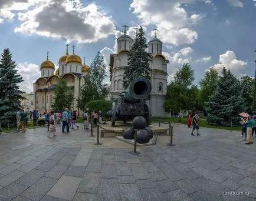
[[[255,132],[256,136],[256,117],[252,118],[252,116],[248,116],[247,118],[241,118],[242,124],[242,135],[241,137],[245,137],[244,141],[246,140],[245,144],[250,145],[253,144],[253,133]]]

